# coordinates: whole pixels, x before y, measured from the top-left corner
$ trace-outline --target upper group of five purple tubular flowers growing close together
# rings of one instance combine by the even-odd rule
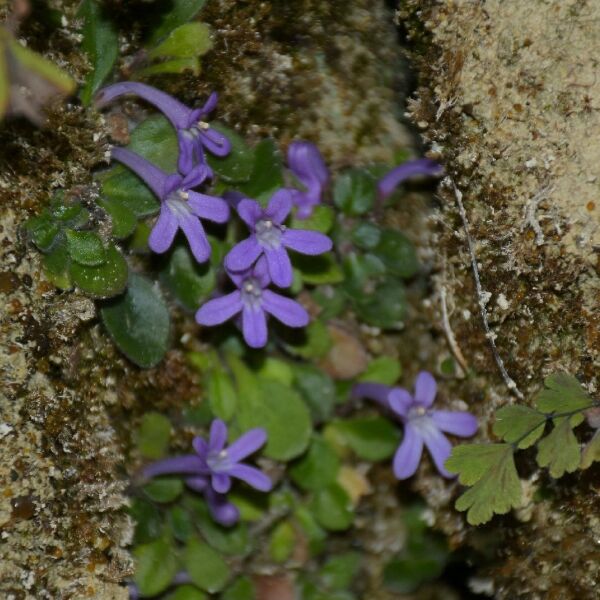
[[[195,191],[213,172],[206,152],[223,157],[231,151],[229,140],[206,121],[217,104],[212,93],[202,108],[191,109],[175,98],[143,83],[117,83],[101,90],[96,105],[103,107],[116,98],[134,94],[154,105],[169,119],[179,141],[179,173],[168,174],[145,158],[113,148],[112,158],[136,173],[160,200],[160,213],[150,233],[148,244],[156,253],[166,252],[181,229],[194,258],[205,262],[210,244],[202,226],[206,219],[225,223],[233,205],[250,230],[250,236],[238,243],[225,258],[225,270],[237,290],[202,306],[196,320],[201,325],[217,325],[241,314],[244,339],[253,348],[267,343],[267,315],[290,327],[303,327],[308,313],[300,304],[269,289],[292,284],[292,265],[288,250],[302,254],[322,254],[331,249],[331,240],[322,233],[289,229],[285,221],[292,206],[300,218],[310,216],[321,200],[329,174],[314,144],[293,142],[288,150],[290,171],[305,187],[304,191],[282,188],[275,192],[266,209],[255,200],[234,193],[223,198]]]

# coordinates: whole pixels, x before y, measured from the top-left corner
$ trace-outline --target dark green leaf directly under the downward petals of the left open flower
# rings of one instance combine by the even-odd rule
[[[161,283],[188,310],[197,310],[216,285],[209,262],[198,264],[187,244],[177,245],[160,271]]]

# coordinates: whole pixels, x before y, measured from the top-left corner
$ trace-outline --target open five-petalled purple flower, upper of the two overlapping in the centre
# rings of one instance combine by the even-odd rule
[[[286,189],[275,192],[264,210],[255,200],[241,200],[237,211],[250,227],[252,235],[229,251],[225,257],[227,269],[245,271],[264,255],[273,283],[289,287],[292,285],[292,264],[288,248],[310,255],[331,250],[331,240],[326,235],[317,231],[288,229],[283,224],[291,209],[291,194]]]

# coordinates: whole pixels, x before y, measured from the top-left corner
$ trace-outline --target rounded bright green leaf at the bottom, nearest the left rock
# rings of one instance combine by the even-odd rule
[[[133,550],[134,580],[144,596],[154,596],[166,590],[177,573],[174,548],[160,539],[142,544]]]

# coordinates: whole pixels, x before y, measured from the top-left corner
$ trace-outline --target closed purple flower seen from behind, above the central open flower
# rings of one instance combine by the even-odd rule
[[[288,166],[305,186],[306,191],[290,190],[292,202],[298,208],[296,216],[306,219],[321,201],[323,188],[329,181],[329,171],[319,149],[311,142],[292,142],[288,148]]]

